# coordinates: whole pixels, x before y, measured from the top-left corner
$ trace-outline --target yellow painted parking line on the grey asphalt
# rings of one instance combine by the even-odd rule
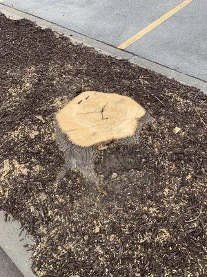
[[[125,49],[126,47],[130,46],[130,44],[136,42],[138,39],[140,39],[141,37],[146,35],[148,32],[150,32],[150,30],[152,30],[152,29],[156,28],[157,26],[159,26],[159,24],[161,24],[162,22],[166,21],[166,19],[168,19],[169,17],[172,17],[172,15],[175,15],[176,12],[178,12],[179,10],[181,10],[182,8],[187,6],[192,1],[193,0],[185,0],[185,1],[183,1],[178,6],[176,6],[172,10],[170,10],[169,12],[166,12],[165,15],[163,15],[162,17],[159,17],[159,19],[157,19],[154,22],[152,22],[146,28],[144,28],[143,30],[139,31],[139,33],[137,33],[136,35],[133,35],[132,37],[130,37],[130,39],[127,39],[126,42],[120,44],[117,48],[119,48],[119,49]]]

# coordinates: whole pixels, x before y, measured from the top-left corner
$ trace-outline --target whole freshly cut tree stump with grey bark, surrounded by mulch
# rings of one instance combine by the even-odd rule
[[[73,98],[55,118],[55,134],[66,159],[57,180],[69,169],[77,169],[99,186],[95,154],[103,143],[139,143],[141,127],[150,120],[144,107],[117,93],[85,91]]]

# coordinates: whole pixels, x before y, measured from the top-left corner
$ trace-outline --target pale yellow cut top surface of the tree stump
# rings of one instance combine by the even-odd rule
[[[56,119],[72,143],[88,147],[132,136],[144,114],[146,110],[127,96],[85,91],[63,107]]]

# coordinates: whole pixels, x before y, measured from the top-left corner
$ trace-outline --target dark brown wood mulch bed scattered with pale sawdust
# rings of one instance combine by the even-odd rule
[[[206,276],[207,97],[3,15],[0,62],[0,208],[33,236],[35,274]],[[53,118],[86,90],[130,96],[155,118],[139,145],[97,157],[107,196],[75,171],[55,183]]]

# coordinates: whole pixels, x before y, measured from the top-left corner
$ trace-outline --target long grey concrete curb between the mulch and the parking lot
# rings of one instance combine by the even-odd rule
[[[132,64],[137,64],[141,67],[144,67],[145,69],[150,69],[152,71],[155,71],[156,73],[166,75],[166,77],[170,79],[174,78],[182,84],[187,84],[190,87],[197,87],[197,89],[201,89],[201,91],[207,94],[207,82],[204,82],[192,76],[180,73],[166,66],[162,66],[161,64],[157,64],[156,62],[152,62],[150,60],[146,60],[143,57],[133,55],[132,53],[120,50],[108,44],[104,44],[103,42],[98,42],[95,39],[76,33],[72,30],[69,30],[68,28],[63,28],[61,26],[58,26],[57,24],[53,24],[39,17],[34,17],[33,15],[29,15],[26,12],[21,12],[19,10],[10,8],[3,4],[0,4],[0,12],[4,13],[7,17],[10,17],[10,19],[14,20],[23,18],[29,19],[30,21],[35,22],[42,28],[50,28],[56,31],[57,33],[61,33],[66,37],[70,37],[70,40],[74,44],[84,44],[86,46],[95,48],[95,50],[99,51],[99,53],[102,53],[104,55],[110,55],[112,57],[116,57],[117,59],[128,60]]]

